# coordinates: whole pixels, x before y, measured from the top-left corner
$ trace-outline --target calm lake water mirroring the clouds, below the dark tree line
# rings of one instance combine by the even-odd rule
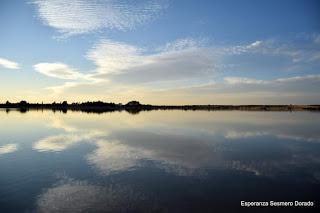
[[[0,111],[0,212],[233,212],[319,192],[320,113]]]

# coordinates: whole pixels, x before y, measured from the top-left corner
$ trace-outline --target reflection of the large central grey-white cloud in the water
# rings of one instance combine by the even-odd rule
[[[97,141],[97,149],[87,156],[88,162],[102,174],[139,167],[143,160],[153,161],[153,166],[177,175],[202,175],[201,169],[221,164],[219,155],[223,148],[218,144],[147,132],[123,131],[116,138],[121,140]]]

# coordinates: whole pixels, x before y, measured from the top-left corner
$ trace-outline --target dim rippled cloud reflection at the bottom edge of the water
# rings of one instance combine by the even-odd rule
[[[129,186],[65,178],[38,196],[37,212],[148,212],[155,208],[148,199]]]

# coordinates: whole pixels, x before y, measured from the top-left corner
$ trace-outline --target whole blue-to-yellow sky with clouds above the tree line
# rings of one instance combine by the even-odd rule
[[[317,0],[1,0],[0,102],[320,104]]]

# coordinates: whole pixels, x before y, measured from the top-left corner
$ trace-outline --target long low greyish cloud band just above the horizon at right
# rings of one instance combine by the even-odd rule
[[[224,81],[199,87],[168,90],[164,94],[188,94],[196,100],[230,104],[315,104],[320,100],[320,75],[271,80],[225,77]],[[202,97],[202,98],[201,98]],[[212,97],[212,98],[210,98]],[[198,101],[198,102],[202,102]]]

